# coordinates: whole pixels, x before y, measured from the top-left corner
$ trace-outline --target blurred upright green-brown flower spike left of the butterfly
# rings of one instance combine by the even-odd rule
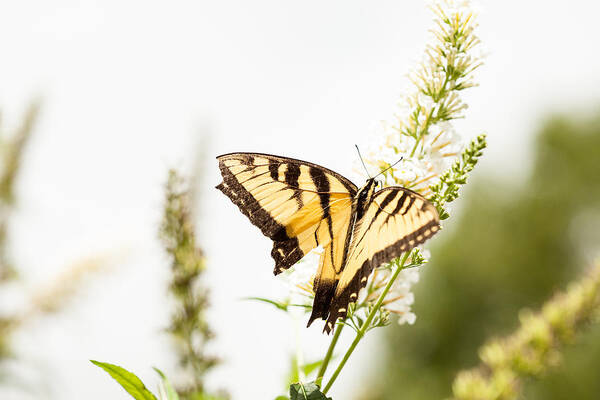
[[[182,367],[177,393],[182,400],[227,399],[227,394],[213,396],[204,387],[205,375],[219,360],[206,352],[214,334],[205,318],[208,290],[201,278],[206,260],[196,243],[192,192],[190,184],[177,171],[169,171],[160,235],[171,258],[169,290],[176,300],[167,330],[175,341]]]

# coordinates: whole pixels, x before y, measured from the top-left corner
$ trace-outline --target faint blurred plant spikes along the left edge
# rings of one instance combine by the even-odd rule
[[[12,217],[19,205],[18,182],[20,170],[26,161],[25,153],[34,134],[39,118],[41,102],[32,101],[16,126],[3,123],[0,114],[0,293],[14,285],[12,294],[1,298],[6,304],[0,305],[0,385],[12,386],[23,393],[36,393],[39,390],[48,395],[48,388],[34,383],[29,375],[38,365],[31,360],[21,358],[14,349],[14,337],[19,331],[38,329],[28,325],[35,317],[57,313],[65,308],[68,300],[73,300],[92,272],[101,271],[107,259],[88,257],[73,263],[57,276],[48,279],[42,285],[31,288],[19,275],[19,266],[13,263],[10,242]],[[40,200],[40,201],[43,201]],[[30,251],[38,251],[31,248]],[[40,266],[43,268],[43,266]],[[18,289],[18,290],[17,290]],[[18,293],[18,294],[17,294]],[[19,297],[23,303],[19,301]],[[13,302],[15,304],[13,304]],[[8,362],[20,364],[14,368]]]

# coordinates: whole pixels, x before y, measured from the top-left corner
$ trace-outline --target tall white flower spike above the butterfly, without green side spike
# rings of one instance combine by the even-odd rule
[[[481,65],[474,55],[479,39],[470,2],[446,0],[432,10],[435,40],[424,60],[410,74],[415,91],[405,97],[391,122],[375,132],[366,162],[385,171],[386,185],[401,185],[424,195],[460,154],[463,145],[451,121],[462,118],[467,105],[460,91],[475,86],[473,71]]]

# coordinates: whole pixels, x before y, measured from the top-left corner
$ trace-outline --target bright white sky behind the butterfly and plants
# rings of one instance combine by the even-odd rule
[[[547,112],[599,104],[600,8],[583,0],[488,1],[481,11],[489,56],[457,126],[467,138],[488,132],[482,168],[516,179],[527,172],[528,144]],[[238,299],[283,287],[271,274],[269,241],[213,189],[214,156],[275,153],[352,176],[353,144],[366,146],[373,124],[391,117],[430,27],[420,1],[1,2],[5,127],[31,98],[43,99],[10,231],[22,280],[0,293],[13,302],[3,308],[82,258],[112,261],[62,313],[15,337],[21,362],[12,369],[28,389],[3,387],[0,398],[127,399],[90,358],[123,365],[152,388],[151,366],[173,371],[161,333],[168,260],[156,232],[167,169],[198,163],[212,349],[224,361],[209,385],[234,399],[280,394],[292,325]],[[367,337],[334,398],[367,384],[379,339]],[[308,359],[324,353],[319,328],[304,340]]]

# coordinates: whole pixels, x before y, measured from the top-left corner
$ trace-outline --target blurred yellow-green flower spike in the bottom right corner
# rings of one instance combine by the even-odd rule
[[[600,312],[600,261],[582,279],[542,306],[524,311],[512,335],[481,348],[482,365],[458,374],[452,386],[455,399],[512,400],[522,379],[540,376],[560,362],[560,348],[573,341],[580,327]]]

